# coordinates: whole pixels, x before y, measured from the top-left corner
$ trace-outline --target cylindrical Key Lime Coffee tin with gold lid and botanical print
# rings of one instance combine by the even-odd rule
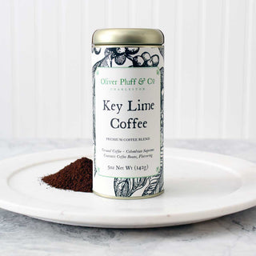
[[[153,29],[93,34],[95,194],[134,199],[163,192],[163,43]]]

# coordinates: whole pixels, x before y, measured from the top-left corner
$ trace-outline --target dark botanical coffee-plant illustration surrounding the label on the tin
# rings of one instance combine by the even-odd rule
[[[154,53],[152,54],[149,49]],[[144,51],[145,50],[145,51]],[[150,51],[150,53],[148,51]],[[159,66],[160,58],[164,58],[163,47],[92,47],[94,65],[92,76],[94,83],[95,71],[98,67],[149,67],[158,66],[161,73],[161,124],[160,124],[160,170],[157,175],[142,178],[110,178],[113,180],[114,195],[116,197],[131,197],[138,190],[142,191],[140,196],[158,194],[163,190],[163,94],[164,94],[164,67]],[[95,61],[96,60],[96,61]],[[93,89],[95,101],[95,86]],[[95,113],[95,111],[94,111]],[[96,134],[94,117],[94,161]],[[94,166],[94,176],[97,175]]]

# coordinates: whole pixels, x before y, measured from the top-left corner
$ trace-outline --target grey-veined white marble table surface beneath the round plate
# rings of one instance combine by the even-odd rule
[[[0,140],[0,159],[85,143],[85,140]],[[166,146],[229,154],[256,162],[256,141],[175,140],[167,141]],[[256,207],[208,222],[146,230],[66,226],[0,209],[1,256],[167,254],[256,255]]]

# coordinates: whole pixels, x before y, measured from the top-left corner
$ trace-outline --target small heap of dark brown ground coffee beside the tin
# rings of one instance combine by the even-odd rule
[[[92,192],[93,162],[89,158],[81,158],[59,170],[42,178],[43,182],[62,190]]]

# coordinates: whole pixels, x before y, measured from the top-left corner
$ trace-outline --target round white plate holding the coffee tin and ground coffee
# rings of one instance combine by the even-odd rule
[[[57,190],[40,177],[91,147],[27,154],[0,162],[0,207],[33,218],[77,226],[140,228],[201,222],[256,205],[256,165],[221,154],[166,148],[165,192],[114,200]]]

